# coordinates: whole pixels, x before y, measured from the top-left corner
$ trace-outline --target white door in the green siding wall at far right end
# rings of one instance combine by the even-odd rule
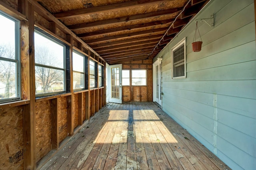
[[[161,65],[162,61],[159,58],[156,62],[153,63],[153,101],[162,106],[162,70]]]

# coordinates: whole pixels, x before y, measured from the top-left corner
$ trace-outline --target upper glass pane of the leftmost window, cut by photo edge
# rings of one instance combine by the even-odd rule
[[[0,14],[0,57],[15,59],[15,22]]]

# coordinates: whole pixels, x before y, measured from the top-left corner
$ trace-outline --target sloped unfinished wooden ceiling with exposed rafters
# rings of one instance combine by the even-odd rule
[[[209,0],[37,0],[110,65],[154,58]]]

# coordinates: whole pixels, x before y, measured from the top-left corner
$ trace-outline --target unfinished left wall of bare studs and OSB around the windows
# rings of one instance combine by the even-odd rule
[[[42,158],[54,153],[91,116],[106,105],[103,87],[36,98],[34,81],[34,28],[69,47],[69,77],[72,80],[72,50],[103,66],[106,62],[86,43],[34,0],[0,0],[0,10],[20,20],[21,100],[0,104],[0,169],[36,169]],[[88,65],[86,66],[88,67]],[[105,76],[105,73],[104,73]],[[105,78],[104,78],[105,79]],[[88,83],[89,80],[86,82]],[[47,159],[47,158],[46,158]]]

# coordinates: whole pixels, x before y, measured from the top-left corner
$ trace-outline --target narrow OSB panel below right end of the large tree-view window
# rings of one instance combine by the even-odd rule
[[[61,142],[68,136],[68,113],[67,113],[67,97],[58,99],[58,126],[59,126],[59,141]]]

